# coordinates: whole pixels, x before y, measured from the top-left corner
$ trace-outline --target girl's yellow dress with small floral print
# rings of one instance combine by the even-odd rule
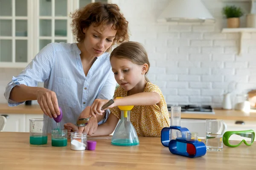
[[[134,125],[138,136],[160,137],[163,127],[170,126],[166,101],[160,88],[151,82],[147,83],[144,92],[158,93],[161,98],[160,102],[158,105],[134,106],[131,110],[131,123]],[[114,98],[125,96],[127,96],[127,91],[119,86],[115,91]],[[121,118],[121,111],[118,107],[111,108],[110,111],[118,119]]]

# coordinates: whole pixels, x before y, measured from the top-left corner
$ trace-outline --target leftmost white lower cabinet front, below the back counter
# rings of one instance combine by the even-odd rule
[[[6,126],[3,132],[25,132],[25,114],[4,114],[6,116]]]

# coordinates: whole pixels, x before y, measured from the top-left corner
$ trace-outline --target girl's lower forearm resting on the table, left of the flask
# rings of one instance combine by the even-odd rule
[[[110,113],[107,122],[102,125],[99,125],[96,132],[90,136],[105,136],[110,135],[116,128],[118,123],[118,118]]]

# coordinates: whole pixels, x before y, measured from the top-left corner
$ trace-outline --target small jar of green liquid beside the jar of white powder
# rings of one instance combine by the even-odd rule
[[[52,130],[52,146],[56,146],[56,147],[67,146],[67,129]]]

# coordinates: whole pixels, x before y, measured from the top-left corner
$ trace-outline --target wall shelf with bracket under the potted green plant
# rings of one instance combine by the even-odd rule
[[[222,33],[239,33],[240,34],[240,43],[239,43],[239,55],[242,54],[244,33],[253,33],[256,32],[256,28],[223,28]]]

